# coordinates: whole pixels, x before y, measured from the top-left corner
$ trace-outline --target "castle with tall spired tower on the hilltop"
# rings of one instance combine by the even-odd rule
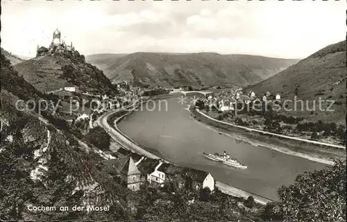
[[[72,45],[65,44],[64,40],[61,40],[61,34],[58,28],[53,32],[53,40],[47,49],[44,46],[37,45],[36,56],[52,55],[53,53],[69,53],[74,52],[75,47]]]

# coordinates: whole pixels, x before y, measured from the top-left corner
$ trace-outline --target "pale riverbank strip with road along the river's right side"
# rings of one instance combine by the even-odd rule
[[[316,146],[308,144],[307,142],[278,138],[272,135],[260,135],[260,133],[244,130],[242,128],[231,126],[232,124],[212,119],[212,117],[208,117],[195,109],[191,110],[191,114],[196,121],[203,123],[204,126],[217,130],[219,133],[237,139],[240,142],[252,144],[253,146],[263,146],[264,148],[269,148],[273,151],[303,157],[307,160],[321,162],[328,165],[334,164],[333,159],[346,158],[346,150],[343,149]]]

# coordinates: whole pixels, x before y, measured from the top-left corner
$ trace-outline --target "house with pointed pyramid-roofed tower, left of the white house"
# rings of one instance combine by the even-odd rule
[[[130,155],[119,159],[107,160],[104,164],[105,170],[111,176],[119,179],[121,183],[133,191],[138,190],[145,180],[141,171],[136,167],[133,157]]]

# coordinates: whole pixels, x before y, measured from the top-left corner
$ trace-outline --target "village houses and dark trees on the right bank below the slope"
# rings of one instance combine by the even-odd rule
[[[346,145],[344,124],[308,121],[305,117],[297,117],[295,110],[287,111],[287,102],[278,93],[266,92],[257,96],[253,91],[244,93],[245,90],[235,87],[205,95],[196,107],[209,117],[226,123],[326,144]]]

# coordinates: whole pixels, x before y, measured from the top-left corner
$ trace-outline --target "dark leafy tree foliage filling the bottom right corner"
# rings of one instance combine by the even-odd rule
[[[267,216],[283,221],[345,221],[346,160],[337,160],[327,169],[305,172],[289,187],[278,190],[280,203]]]

